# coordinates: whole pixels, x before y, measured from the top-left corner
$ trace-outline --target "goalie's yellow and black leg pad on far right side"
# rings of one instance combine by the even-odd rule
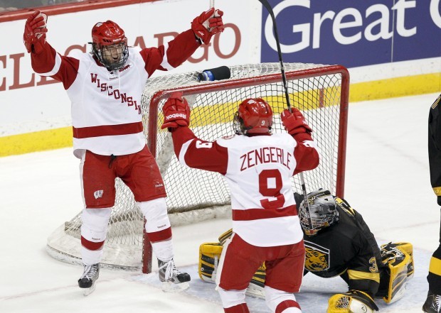
[[[386,265],[387,275],[382,278],[388,280],[387,290],[383,300],[393,303],[400,300],[405,292],[405,285],[413,277],[413,247],[411,243],[387,243],[381,246],[381,258]],[[381,285],[384,285],[382,282]]]

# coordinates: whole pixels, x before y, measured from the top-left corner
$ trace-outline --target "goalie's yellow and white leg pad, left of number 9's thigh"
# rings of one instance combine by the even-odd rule
[[[202,243],[199,246],[199,277],[204,282],[216,282],[218,262],[223,246],[221,243]]]

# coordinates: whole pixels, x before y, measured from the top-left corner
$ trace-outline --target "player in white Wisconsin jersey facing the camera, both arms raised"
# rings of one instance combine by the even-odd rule
[[[110,212],[115,205],[115,178],[134,194],[147,219],[146,231],[159,263],[159,279],[185,289],[190,275],[174,265],[166,190],[145,143],[141,115],[144,84],[156,70],[170,70],[223,31],[223,12],[214,8],[194,18],[191,29],[158,48],[127,46],[113,21],[92,28],[92,52],[60,55],[46,41],[47,15],[31,13],[23,42],[33,70],[63,83],[72,102],[73,153],[80,158],[85,208],[81,227],[84,271],[78,285],[85,295],[95,288]]]

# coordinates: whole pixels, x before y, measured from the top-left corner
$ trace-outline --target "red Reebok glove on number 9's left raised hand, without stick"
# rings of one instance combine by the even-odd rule
[[[173,128],[188,126],[190,123],[190,108],[187,100],[182,98],[182,92],[171,94],[164,104],[162,112],[164,113],[164,123],[162,123],[161,129],[169,128],[169,131],[172,131]]]

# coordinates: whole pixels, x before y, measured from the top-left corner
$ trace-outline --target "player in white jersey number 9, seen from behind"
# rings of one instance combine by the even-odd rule
[[[171,94],[163,111],[162,128],[171,131],[179,162],[219,172],[230,187],[233,236],[216,276],[224,312],[249,312],[245,290],[264,260],[267,306],[272,312],[302,312],[293,292],[302,282],[305,250],[290,178],[316,168],[319,154],[300,111],[283,111],[288,133],[272,134],[270,105],[246,99],[234,118],[236,134],[214,142],[188,128],[190,109],[181,93]]]

